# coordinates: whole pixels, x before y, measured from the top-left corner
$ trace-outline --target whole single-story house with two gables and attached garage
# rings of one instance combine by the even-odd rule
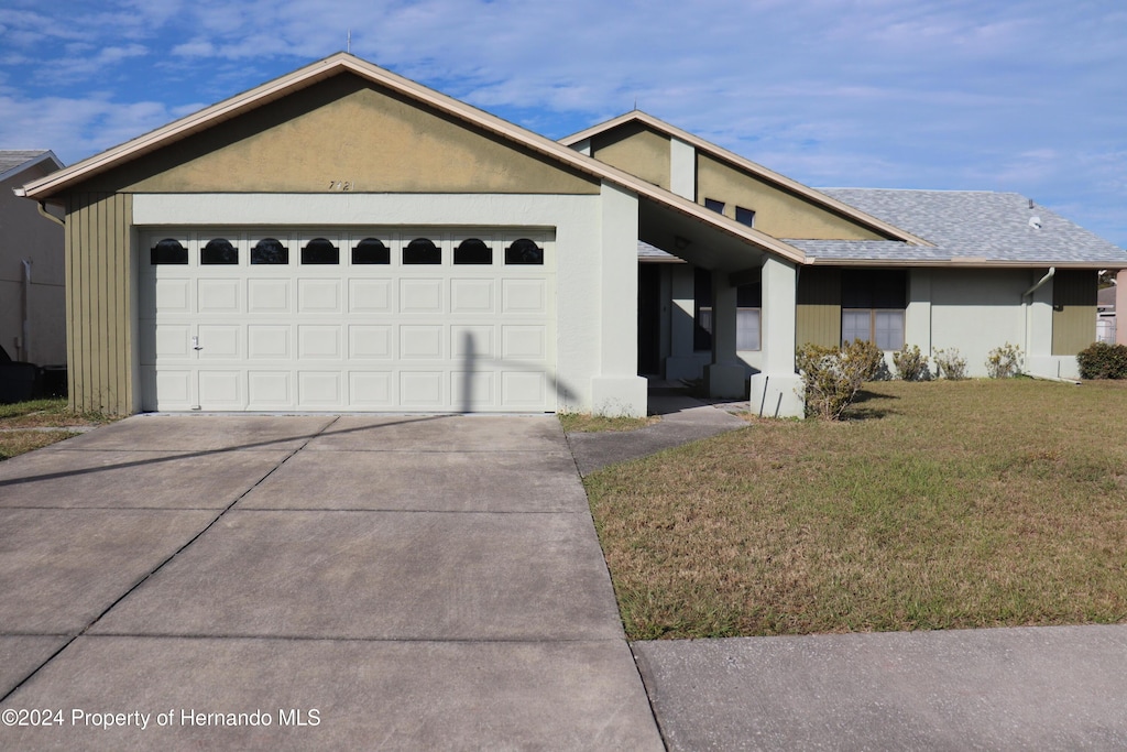
[[[23,193],[113,413],[640,415],[659,373],[800,415],[807,340],[1067,375],[1127,267],[1020,197],[819,192],[637,112],[556,142],[346,53]]]

